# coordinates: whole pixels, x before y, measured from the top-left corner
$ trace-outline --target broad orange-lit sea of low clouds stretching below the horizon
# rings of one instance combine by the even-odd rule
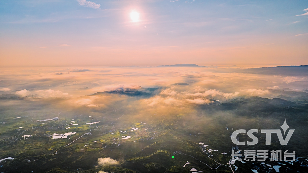
[[[308,33],[306,36],[308,36]],[[273,75],[262,76],[259,74],[234,73],[233,69],[221,67],[215,69],[206,68],[201,71],[199,68],[195,70],[190,68],[189,70],[176,70],[174,68],[154,67],[117,68],[118,69],[115,69],[115,67],[106,67],[103,69],[92,67],[69,67],[63,69],[63,67],[59,67],[45,71],[41,71],[39,69],[27,69],[27,71],[20,72],[12,71],[12,74],[14,75],[10,75],[11,80],[0,81],[0,86],[2,86],[0,87],[0,92],[11,92],[12,94],[17,92],[16,94],[20,97],[28,96],[30,99],[32,97],[37,99],[49,97],[68,98],[67,104],[70,106],[79,107],[82,109],[103,109],[104,107],[108,107],[109,99],[117,100],[126,98],[126,95],[99,94],[95,97],[80,96],[91,95],[95,92],[124,91],[126,89],[129,89],[130,91],[136,89],[139,91],[149,92],[149,90],[146,90],[145,88],[164,86],[153,92],[152,97],[132,97],[130,99],[139,100],[142,98],[143,103],[140,104],[154,108],[156,105],[162,107],[172,105],[180,108],[189,106],[189,104],[202,103],[202,100],[204,103],[205,99],[215,99],[220,102],[224,102],[240,95],[259,96],[257,94],[266,93],[266,91],[264,92],[262,90],[270,91],[270,89],[277,89],[278,86],[279,88],[295,89],[294,85],[296,85],[296,89],[306,89],[306,81],[308,80],[308,78],[304,78],[304,76],[287,77],[278,75],[273,77]],[[218,73],[216,71],[213,72],[214,70],[225,71]],[[112,71],[112,73],[110,73],[110,71]],[[75,73],[82,73],[82,75],[75,75]],[[98,74],[102,74],[104,76],[97,76]],[[189,85],[170,85],[177,82],[187,82]],[[11,91],[3,91],[3,88],[8,88],[10,86],[18,86],[20,89],[17,89],[16,91],[16,89],[10,88]],[[145,88],[142,88],[141,86]],[[78,90],[81,87],[89,87],[91,89]],[[26,90],[23,90],[22,88]],[[247,91],[248,89],[254,88],[262,90]],[[269,93],[260,96],[271,98],[273,95],[272,93]]]

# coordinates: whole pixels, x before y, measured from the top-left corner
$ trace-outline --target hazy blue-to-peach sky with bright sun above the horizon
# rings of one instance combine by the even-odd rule
[[[308,1],[1,0],[0,66],[307,65],[307,22]]]

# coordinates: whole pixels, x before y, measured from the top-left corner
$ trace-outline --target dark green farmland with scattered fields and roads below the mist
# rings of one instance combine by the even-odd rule
[[[160,114],[158,116],[153,116],[152,109],[131,109],[127,103],[121,103],[121,107],[117,112],[105,108],[100,111],[89,109],[78,113],[80,110],[72,109],[62,112],[59,120],[46,122],[36,122],[46,116],[31,115],[31,110],[23,111],[23,115],[17,115],[18,111],[3,111],[2,114],[6,115],[0,124],[1,159],[6,157],[14,159],[2,161],[0,171],[103,170],[164,173],[191,172],[190,169],[194,168],[203,172],[232,172],[229,167],[231,146],[235,146],[230,139],[232,132],[235,129],[269,129],[269,127],[279,129],[284,119],[290,127],[296,127],[290,144],[280,145],[277,137],[272,137],[272,145],[265,146],[264,134],[258,134],[256,136],[260,142],[257,145],[246,145],[240,149],[283,151],[287,149],[296,151],[297,157],[308,155],[306,149],[308,107],[302,105],[287,108],[271,105],[262,98],[251,97],[244,100],[230,100],[218,105],[194,106],[180,111],[174,109],[159,113],[160,111],[156,110],[155,112],[158,112],[156,114]],[[41,111],[51,112],[51,109],[43,107]],[[21,118],[14,119],[18,116]],[[57,114],[54,114],[47,118],[56,116]],[[97,121],[100,123],[86,124]],[[70,123],[78,125],[68,126]],[[70,128],[66,129],[67,127]],[[136,128],[138,130],[134,131]],[[76,134],[68,135],[65,139],[52,139],[55,133],[68,132]],[[24,139],[23,135],[32,136]],[[131,138],[122,139],[122,136]],[[247,135],[239,137],[241,140],[251,140]],[[200,142],[208,147],[202,147]],[[209,149],[218,151],[209,153]],[[227,154],[223,155],[222,152]],[[107,157],[116,159],[119,164],[98,167],[98,158]],[[187,162],[190,164],[183,167]],[[265,164],[277,165],[270,160],[265,161]],[[294,164],[283,162],[280,164],[280,170],[281,172],[289,172],[288,169],[304,171],[305,168],[301,165],[305,164],[307,161],[304,159],[298,159]],[[260,162],[244,164],[237,161],[235,166],[238,167],[238,172],[249,172],[251,169],[257,169],[259,172],[269,171]],[[235,167],[232,167],[234,170]]]

